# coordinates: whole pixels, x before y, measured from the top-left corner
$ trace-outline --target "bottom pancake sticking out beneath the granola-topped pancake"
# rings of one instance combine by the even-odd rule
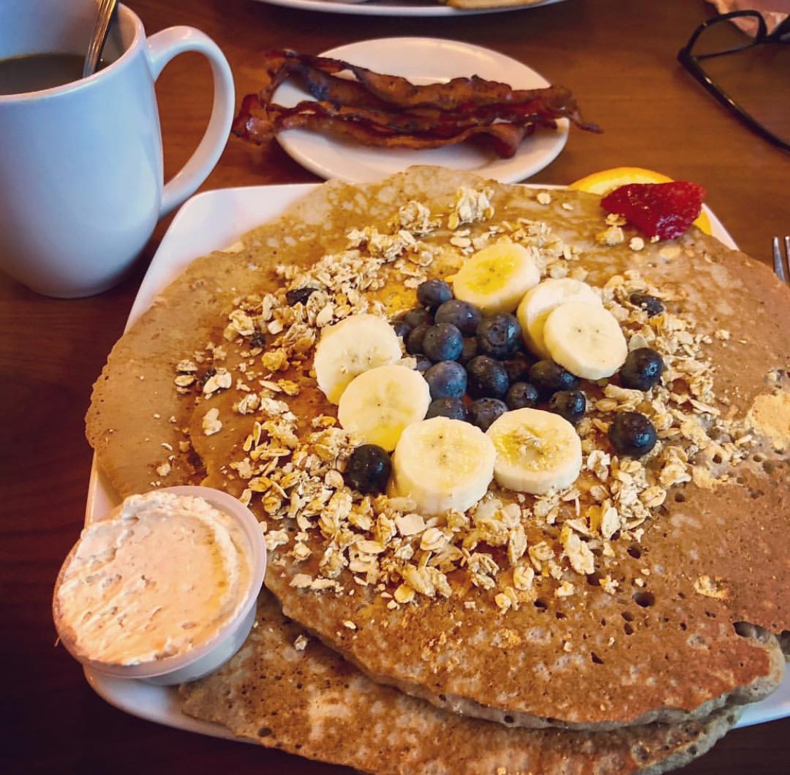
[[[223,668],[180,690],[182,711],[239,737],[377,775],[664,773],[708,751],[739,717],[611,732],[515,729],[446,713],[374,683],[261,594],[258,621]]]

